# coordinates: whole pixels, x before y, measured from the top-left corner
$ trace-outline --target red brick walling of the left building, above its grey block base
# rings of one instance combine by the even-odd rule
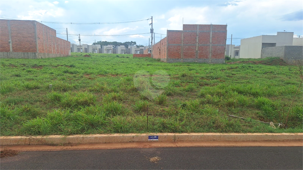
[[[37,52],[35,24],[37,30],[38,53],[64,54],[70,51],[70,42],[56,37],[56,30],[37,21],[0,20],[0,51],[9,52],[8,24],[10,22],[12,52]],[[57,48],[57,50],[56,50]]]

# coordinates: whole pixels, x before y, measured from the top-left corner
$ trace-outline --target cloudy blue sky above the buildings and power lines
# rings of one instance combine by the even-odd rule
[[[240,45],[241,38],[276,35],[279,31],[303,35],[302,0],[247,0],[247,1],[34,1],[1,0],[1,19],[36,20],[57,30],[57,37],[79,43],[94,41],[136,41],[148,45],[153,16],[155,42],[164,38],[166,30],[182,30],[184,24],[227,24],[227,43]],[[143,21],[138,21],[143,20]],[[59,22],[60,24],[44,23]],[[128,22],[138,21],[138,22]],[[118,24],[62,24],[110,23]],[[82,34],[82,35],[81,35]],[[134,35],[129,35],[134,34]],[[85,36],[87,35],[87,36]],[[92,36],[88,36],[92,35]],[[107,36],[97,36],[107,35]],[[123,36],[111,36],[123,35]],[[297,37],[297,36],[294,36]]]

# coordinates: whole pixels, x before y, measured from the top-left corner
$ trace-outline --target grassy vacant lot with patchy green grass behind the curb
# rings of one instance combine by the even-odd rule
[[[1,136],[302,132],[302,88],[287,129],[255,121],[282,122],[299,87],[301,74],[279,59],[170,64],[128,54],[83,55],[1,59]],[[157,76],[136,78],[140,87],[135,87],[139,70],[168,74],[168,84],[150,86],[161,95],[148,97],[151,91],[144,88],[144,80]]]

